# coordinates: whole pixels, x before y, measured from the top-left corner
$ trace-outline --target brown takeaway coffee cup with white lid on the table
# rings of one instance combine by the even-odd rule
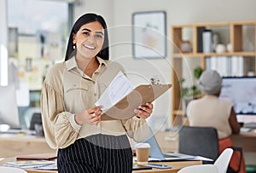
[[[135,146],[137,164],[148,164],[150,145],[148,143],[137,143]]]

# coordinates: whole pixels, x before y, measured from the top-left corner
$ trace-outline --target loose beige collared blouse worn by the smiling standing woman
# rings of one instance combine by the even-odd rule
[[[44,135],[49,147],[68,147],[79,138],[96,134],[127,134],[135,141],[148,137],[146,120],[137,117],[101,121],[96,125],[75,122],[75,113],[95,107],[95,102],[115,75],[124,72],[117,62],[98,57],[97,60],[100,65],[91,78],[79,70],[74,57],[49,69],[41,94]]]

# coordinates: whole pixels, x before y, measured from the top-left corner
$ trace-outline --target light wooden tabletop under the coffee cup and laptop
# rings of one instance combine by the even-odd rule
[[[3,159],[0,161],[0,165],[3,165],[4,163],[8,161],[15,161],[15,158],[8,158]],[[154,163],[154,162],[152,162]],[[172,169],[156,169],[153,168],[152,170],[133,170],[132,173],[177,173],[178,170],[182,169],[185,166],[189,165],[195,165],[195,164],[201,164],[201,161],[175,161],[175,162],[155,162],[156,164],[170,164],[172,165]],[[33,169],[26,169],[28,173],[57,173],[56,170],[33,170]]]

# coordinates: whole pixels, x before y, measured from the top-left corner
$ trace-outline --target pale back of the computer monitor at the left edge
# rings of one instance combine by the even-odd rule
[[[20,128],[15,85],[0,86],[0,95],[0,124],[9,124],[10,128]]]

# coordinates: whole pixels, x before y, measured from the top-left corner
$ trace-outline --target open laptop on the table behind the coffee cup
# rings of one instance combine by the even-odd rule
[[[160,149],[158,142],[156,141],[153,131],[151,129],[149,131],[150,131],[149,138],[146,141],[144,141],[149,143],[150,145],[148,161],[175,161],[175,160],[191,160],[196,158],[195,156],[191,156],[183,153],[172,153],[172,152],[163,153]]]

